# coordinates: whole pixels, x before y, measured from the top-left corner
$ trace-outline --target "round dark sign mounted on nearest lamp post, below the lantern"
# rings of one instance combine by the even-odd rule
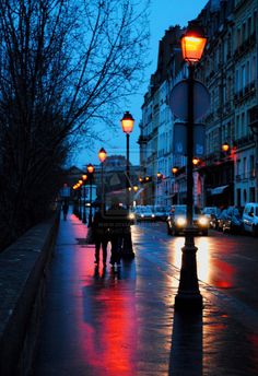
[[[178,82],[171,92],[171,110],[181,120],[188,118],[188,80]],[[208,89],[199,81],[194,80],[194,121],[198,121],[210,108],[210,94]]]

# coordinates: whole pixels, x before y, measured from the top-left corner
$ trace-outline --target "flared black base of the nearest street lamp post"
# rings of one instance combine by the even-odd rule
[[[195,246],[195,234],[194,227],[185,230],[186,242],[181,248],[180,282],[175,297],[176,310],[200,312],[203,308],[197,278],[196,251],[198,248]]]

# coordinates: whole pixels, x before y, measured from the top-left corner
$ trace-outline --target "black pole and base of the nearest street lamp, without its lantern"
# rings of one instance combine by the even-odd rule
[[[185,246],[181,248],[180,281],[175,297],[177,310],[201,310],[202,296],[199,291],[197,278],[197,262],[195,246],[195,228],[192,226],[192,155],[194,155],[194,72],[195,66],[190,64],[188,78],[188,121],[187,121],[187,227],[185,230]]]

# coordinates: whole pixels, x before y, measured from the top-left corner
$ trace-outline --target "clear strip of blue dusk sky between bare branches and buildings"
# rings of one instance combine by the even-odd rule
[[[156,69],[159,40],[165,34],[165,30],[169,26],[179,24],[186,26],[188,21],[195,19],[207,4],[208,0],[151,0],[151,15],[150,15],[150,60],[151,66],[145,71],[146,83],[141,87],[139,95],[131,97],[131,104],[128,108],[136,119],[133,132],[130,136],[130,162],[133,165],[139,164],[139,145],[137,140],[139,138],[139,121],[141,120],[141,105],[143,103],[143,95],[146,92],[150,77]],[[121,113],[122,117],[124,113]],[[78,167],[83,167],[87,163],[99,164],[97,158],[98,150],[104,146],[108,155],[120,154],[126,155],[126,136],[121,131],[120,119],[117,119],[117,132],[108,131],[105,137],[105,144],[96,142],[94,152],[81,151],[80,155],[74,155],[71,164]],[[102,132],[103,130],[101,130]]]

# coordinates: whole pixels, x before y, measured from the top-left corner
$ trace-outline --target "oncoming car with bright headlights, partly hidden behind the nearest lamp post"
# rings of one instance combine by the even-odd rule
[[[197,233],[208,235],[209,221],[206,215],[201,214],[200,209],[197,207],[194,208],[192,222]],[[166,223],[168,235],[178,235],[184,233],[187,225],[187,207],[173,205]]]

